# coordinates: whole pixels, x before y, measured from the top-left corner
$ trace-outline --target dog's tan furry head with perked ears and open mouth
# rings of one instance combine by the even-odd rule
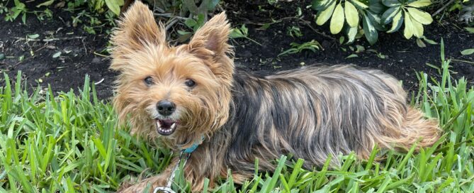
[[[152,11],[136,1],[113,32],[115,110],[132,133],[192,144],[227,120],[234,65],[225,13],[210,19],[188,44],[170,47]]]

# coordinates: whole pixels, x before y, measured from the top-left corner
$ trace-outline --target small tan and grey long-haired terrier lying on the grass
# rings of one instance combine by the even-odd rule
[[[439,139],[439,124],[407,105],[397,79],[354,65],[312,65],[253,75],[236,70],[225,13],[213,16],[187,44],[170,46],[152,11],[136,1],[113,32],[111,69],[119,72],[113,106],[130,132],[159,138],[171,150],[200,143],[184,166],[193,192],[218,177],[242,183],[271,171],[280,155],[305,168],[354,152],[367,159],[374,145],[403,150]],[[163,186],[178,161],[161,174],[122,187]]]

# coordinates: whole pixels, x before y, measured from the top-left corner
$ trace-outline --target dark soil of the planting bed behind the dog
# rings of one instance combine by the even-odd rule
[[[27,6],[33,9],[33,3]],[[403,80],[406,89],[417,88],[416,72],[437,76],[437,70],[429,67],[427,63],[440,66],[440,45],[427,43],[426,48],[419,48],[413,38],[405,40],[401,32],[379,33],[376,45],[369,45],[363,38],[351,45],[340,45],[340,35],[320,34],[329,32],[329,29],[327,26],[315,26],[313,17],[310,16],[314,12],[306,8],[308,4],[308,1],[281,2],[276,7],[269,5],[267,1],[226,1],[223,9],[227,11],[231,23],[234,26],[245,23],[249,28],[249,38],[261,44],[257,45],[244,38],[232,40],[237,67],[251,71],[278,71],[317,62],[331,65],[351,63],[388,72]],[[304,21],[293,18],[298,6],[307,14],[303,20],[311,21],[310,25],[315,30],[309,28]],[[30,87],[36,87],[38,84],[47,87],[47,84],[50,84],[55,92],[77,89],[84,83],[84,77],[89,75],[91,81],[97,82],[96,90],[101,99],[112,96],[116,73],[108,70],[110,60],[104,56],[108,54],[103,52],[108,45],[108,34],[105,31],[112,27],[104,26],[103,33],[96,31],[96,35],[91,35],[86,33],[81,25],[72,27],[71,18],[77,16],[77,13],[60,9],[52,11],[53,18],[46,21],[39,21],[35,15],[29,14],[27,25],[21,23],[21,19],[9,22],[4,21],[4,16],[0,16],[0,53],[6,55],[6,59],[0,60],[1,72],[7,72],[10,77],[14,77],[17,71],[21,70]],[[271,23],[271,19],[278,21],[281,18],[284,19],[272,23],[269,28],[262,28],[264,23]],[[287,28],[291,26],[299,27],[303,37],[290,37]],[[453,76],[466,77],[472,85],[474,55],[461,55],[460,52],[474,48],[474,34],[458,26],[462,24],[449,18],[434,22],[425,28],[425,36],[436,43],[440,43],[441,38],[444,39],[446,57],[465,61],[451,62],[451,70],[456,73]],[[60,40],[45,43],[21,39],[31,34],[40,35],[40,40]],[[290,48],[290,43],[305,43],[310,40],[317,40],[323,50],[277,57],[283,50]],[[356,53],[356,45],[362,46],[365,51]],[[61,51],[62,55],[52,57],[58,51]],[[346,59],[352,54],[358,57]],[[21,56],[24,56],[23,60],[19,60]],[[1,79],[0,84],[4,84],[4,79]]]

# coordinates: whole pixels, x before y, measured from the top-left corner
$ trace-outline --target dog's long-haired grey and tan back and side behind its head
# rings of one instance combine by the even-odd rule
[[[332,155],[337,165],[339,153],[368,158],[376,143],[410,148],[419,138],[419,146],[439,138],[437,122],[407,106],[399,82],[379,70],[337,65],[234,77],[234,111],[226,127],[235,159],[291,153],[310,167]],[[267,164],[272,167],[261,163]]]

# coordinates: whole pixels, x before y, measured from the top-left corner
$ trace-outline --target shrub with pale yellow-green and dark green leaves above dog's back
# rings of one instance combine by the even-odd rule
[[[430,0],[314,0],[312,9],[317,11],[317,25],[325,24],[330,18],[332,34],[344,29],[349,42],[352,42],[357,33],[363,33],[373,44],[378,39],[378,31],[393,33],[403,23],[405,38],[421,38],[423,25],[430,24],[433,19],[420,8],[430,4]]]

